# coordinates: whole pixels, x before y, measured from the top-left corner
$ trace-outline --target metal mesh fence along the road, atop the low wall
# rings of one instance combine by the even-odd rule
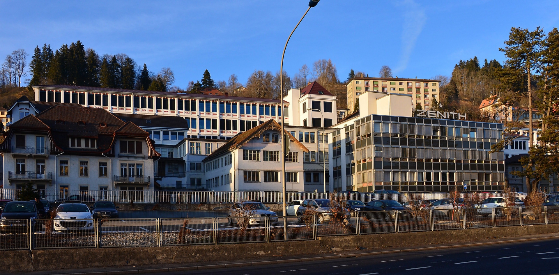
[[[557,224],[548,206],[494,209],[335,212],[308,216],[240,216],[178,219],[0,220],[0,250],[263,243],[314,240],[329,235],[465,230]],[[557,212],[559,213],[559,212]]]

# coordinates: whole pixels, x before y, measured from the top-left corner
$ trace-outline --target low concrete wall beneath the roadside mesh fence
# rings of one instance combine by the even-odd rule
[[[373,234],[320,237],[318,240],[188,245],[177,247],[8,250],[0,257],[0,271],[29,272],[40,270],[169,264],[254,259],[272,255],[301,255],[305,252],[326,253],[357,247],[385,248],[468,242],[479,239],[517,237],[530,234],[556,233],[559,224],[507,226],[467,230],[425,231],[399,234]]]

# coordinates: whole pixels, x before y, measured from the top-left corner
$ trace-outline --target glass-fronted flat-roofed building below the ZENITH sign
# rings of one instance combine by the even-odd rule
[[[333,133],[334,191],[498,191],[503,124],[368,115]]]

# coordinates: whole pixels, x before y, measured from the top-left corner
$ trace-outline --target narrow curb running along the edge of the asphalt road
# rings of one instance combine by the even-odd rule
[[[498,240],[496,242],[486,242],[486,243],[443,245],[443,246],[440,246],[440,247],[410,248],[410,249],[400,249],[400,250],[387,250],[387,251],[378,251],[378,252],[353,253],[353,254],[333,255],[333,256],[324,256],[324,257],[310,257],[310,258],[297,258],[297,259],[285,259],[285,260],[264,260],[264,261],[260,261],[260,262],[212,264],[212,265],[209,265],[209,266],[150,268],[150,269],[135,269],[135,270],[123,270],[123,271],[102,271],[102,272],[82,272],[82,273],[55,273],[55,274],[49,274],[49,275],[120,275],[120,274],[171,272],[171,271],[189,271],[189,270],[197,270],[197,269],[214,269],[214,268],[225,268],[225,267],[262,266],[264,264],[278,264],[278,263],[292,263],[292,262],[307,262],[307,261],[310,261],[310,260],[353,258],[353,257],[364,257],[364,256],[379,255],[379,254],[414,252],[414,251],[422,251],[422,250],[436,250],[436,249],[462,248],[462,247],[479,247],[481,245],[518,243],[518,242],[527,242],[527,241],[531,241],[531,240],[546,240],[546,239],[558,239],[558,238],[559,238],[559,236],[529,238],[529,239],[517,239],[517,240]]]

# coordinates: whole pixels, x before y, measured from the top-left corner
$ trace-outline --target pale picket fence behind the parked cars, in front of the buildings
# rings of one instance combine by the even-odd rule
[[[0,189],[0,199],[17,200],[20,189]],[[134,203],[208,203],[220,204],[245,200],[258,200],[264,203],[281,204],[282,193],[279,191],[129,191],[129,190],[41,190],[41,196],[49,201],[58,199],[72,199],[72,196],[88,195],[95,201],[114,201]],[[467,195],[467,194],[466,194]],[[481,199],[491,196],[503,196],[500,193],[481,193]],[[286,202],[293,200],[308,199],[330,199],[331,196],[339,197],[340,200],[360,200],[365,203],[372,200],[396,200],[406,202],[409,200],[432,200],[446,199],[449,193],[401,193],[401,194],[379,194],[379,193],[314,193],[314,192],[287,192]]]

